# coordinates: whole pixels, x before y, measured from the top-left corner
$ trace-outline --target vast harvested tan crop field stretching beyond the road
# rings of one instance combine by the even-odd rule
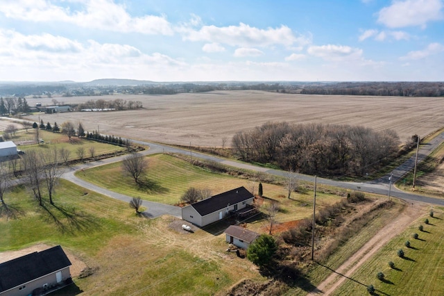
[[[232,135],[264,122],[350,124],[375,130],[393,129],[405,142],[413,134],[425,136],[444,126],[442,97],[363,97],[282,94],[250,90],[175,95],[109,95],[56,97],[60,104],[88,100],[142,101],[142,110],[72,112],[28,117],[38,122],[82,122],[87,131],[176,145],[221,147]],[[28,99],[53,104],[52,99]]]

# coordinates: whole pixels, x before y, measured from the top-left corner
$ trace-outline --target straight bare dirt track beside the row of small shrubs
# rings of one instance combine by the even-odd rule
[[[379,231],[372,239],[361,247],[353,256],[348,258],[337,270],[336,272],[345,275],[345,277],[350,277],[357,268],[359,268],[364,262],[373,256],[379,249],[381,249],[387,242],[392,238],[397,236],[399,233],[404,231],[411,222],[418,219],[422,214],[422,211],[418,211],[418,207],[422,207],[420,203],[413,203],[404,208],[404,211],[395,217],[395,219],[387,224],[381,231]],[[316,290],[308,293],[307,295],[330,295],[338,288],[345,277],[341,277],[339,274],[332,273],[330,277],[327,277],[325,281],[320,283]]]

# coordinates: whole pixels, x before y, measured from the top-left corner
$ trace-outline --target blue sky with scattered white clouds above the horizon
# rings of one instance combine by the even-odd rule
[[[0,0],[0,81],[444,81],[444,0]]]

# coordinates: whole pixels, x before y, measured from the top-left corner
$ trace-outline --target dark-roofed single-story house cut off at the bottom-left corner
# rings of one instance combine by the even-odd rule
[[[69,261],[60,245],[0,264],[0,295],[46,295],[70,283]]]

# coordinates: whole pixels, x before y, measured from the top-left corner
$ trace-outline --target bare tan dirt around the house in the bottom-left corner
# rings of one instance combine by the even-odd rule
[[[40,252],[45,249],[49,249],[53,246],[45,245],[45,244],[38,244],[33,245],[32,247],[27,247],[24,249],[19,249],[18,251],[6,251],[0,253],[0,263],[10,261],[15,258],[19,258],[22,256],[25,256],[27,254],[31,254],[33,252]],[[63,249],[65,254],[67,254],[69,261],[71,261],[71,266],[69,267],[69,271],[71,272],[71,277],[78,277],[82,270],[85,270],[87,268],[87,265],[81,261],[79,258],[77,258],[74,254],[69,252],[67,249]]]

